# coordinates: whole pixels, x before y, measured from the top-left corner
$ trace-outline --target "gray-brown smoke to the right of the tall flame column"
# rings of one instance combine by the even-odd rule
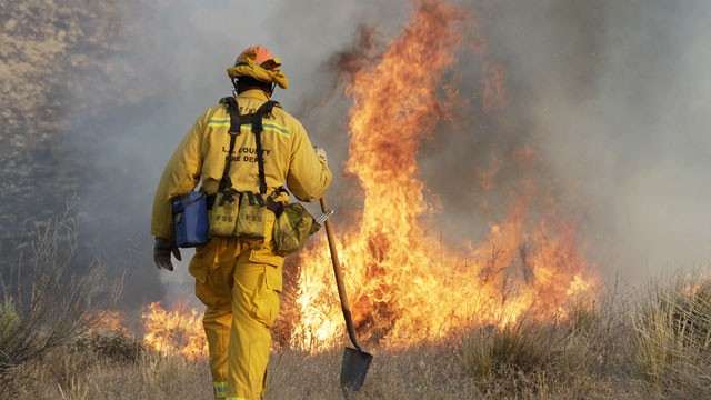
[[[420,153],[448,242],[475,242],[501,221],[510,191],[532,179],[543,187],[539,201],[577,222],[588,258],[609,276],[639,282],[704,264],[711,193],[701,178],[710,140],[702,38],[711,7],[460,6],[472,14],[461,29],[478,51],[462,49],[444,77],[459,90],[449,110],[455,122],[443,123]],[[494,67],[504,71],[507,106],[485,112],[482,79]],[[527,144],[535,162],[513,160]],[[482,182],[487,176],[494,189]]]

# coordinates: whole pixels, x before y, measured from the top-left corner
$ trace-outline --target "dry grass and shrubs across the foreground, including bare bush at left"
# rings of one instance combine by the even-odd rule
[[[0,398],[212,398],[206,359],[157,354],[120,324],[101,323],[101,268],[74,264],[70,211],[38,227],[0,280]],[[711,398],[709,272],[653,282],[635,296],[613,286],[565,318],[540,321],[474,323],[405,350],[371,349],[354,398]],[[274,351],[268,398],[340,398],[341,360],[340,348]]]

